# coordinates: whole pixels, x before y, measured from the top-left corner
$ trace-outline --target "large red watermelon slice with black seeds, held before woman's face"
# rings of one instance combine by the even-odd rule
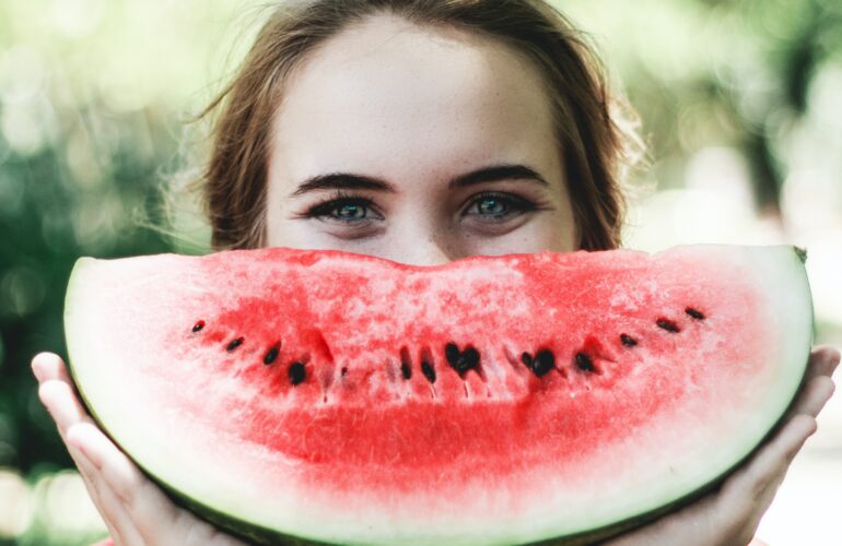
[[[71,372],[175,498],[241,536],[592,539],[712,487],[791,404],[793,247],[79,260]]]

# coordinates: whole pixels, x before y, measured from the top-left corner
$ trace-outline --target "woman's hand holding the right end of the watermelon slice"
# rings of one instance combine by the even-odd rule
[[[793,458],[816,431],[816,416],[833,394],[839,351],[810,353],[804,388],[780,430],[722,486],[677,512],[606,543],[606,546],[745,546],[772,503]],[[753,543],[752,543],[753,544]]]

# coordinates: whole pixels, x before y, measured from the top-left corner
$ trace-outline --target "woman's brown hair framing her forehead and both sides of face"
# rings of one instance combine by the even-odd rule
[[[631,142],[590,47],[541,0],[309,0],[282,3],[257,35],[231,84],[201,112],[217,112],[201,175],[214,249],[265,240],[270,120],[306,54],[350,24],[388,12],[422,25],[453,25],[500,39],[530,58],[553,103],[580,248],[617,248],[625,202],[620,170]]]

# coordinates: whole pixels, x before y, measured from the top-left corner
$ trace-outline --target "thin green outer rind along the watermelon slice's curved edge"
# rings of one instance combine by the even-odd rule
[[[791,249],[790,256],[792,257],[792,261],[794,262],[794,269],[800,270],[803,273],[803,282],[804,282],[804,289],[803,292],[809,296],[809,285],[807,283],[806,272],[804,272],[803,263],[806,258],[806,252],[797,247],[788,247]],[[71,273],[69,286],[74,286],[74,278],[79,278],[83,275],[83,271],[95,263],[95,260],[92,259],[80,259],[77,262],[77,265],[73,269],[73,272]],[[797,292],[797,290],[796,290]],[[72,330],[72,321],[68,321],[68,317],[72,316],[74,306],[74,296],[77,293],[74,290],[69,289],[66,297],[66,328],[68,329],[67,332],[67,341],[68,341],[68,352],[69,352],[69,361],[68,361],[68,368],[71,378],[73,379],[74,383],[78,385],[78,376],[77,371],[73,368],[73,360],[74,355],[77,357],[81,355],[82,351],[80,347],[77,347],[73,343],[73,334],[71,332]],[[810,329],[809,329],[809,341],[806,343],[806,351],[804,355],[804,363],[805,368],[802,370],[802,381],[804,381],[804,371],[806,371],[806,363],[809,357],[809,351],[812,343],[812,306],[811,306],[811,298],[808,298],[809,301],[809,318],[810,318]],[[723,472],[720,476],[716,478],[710,480],[707,484],[704,484],[703,486],[699,487],[695,490],[689,491],[687,495],[676,499],[675,501],[669,502],[668,505],[662,506],[654,510],[647,510],[645,512],[636,513],[630,515],[628,519],[616,522],[611,525],[607,526],[599,526],[594,527],[592,530],[586,530],[581,533],[576,533],[573,535],[568,535],[564,537],[552,537],[543,541],[533,542],[530,544],[563,544],[563,545],[577,545],[577,544],[590,544],[595,541],[603,541],[606,538],[609,538],[611,536],[615,536],[619,533],[633,530],[635,527],[639,527],[645,523],[652,522],[655,519],[671,513],[681,507],[685,507],[689,503],[691,503],[693,500],[702,497],[703,495],[716,489],[722,482],[727,478],[728,475],[730,475],[734,470],[739,467],[744,462],[751,458],[751,455],[761,447],[763,443],[768,441],[769,438],[771,438],[777,429],[780,429],[782,423],[785,420],[785,417],[792,407],[795,395],[797,394],[798,390],[800,389],[800,383],[798,389],[793,390],[793,392],[790,394],[790,402],[786,404],[785,410],[781,413],[781,416],[777,418],[775,424],[763,435],[763,439],[761,443],[750,450],[749,452],[745,453],[741,458],[738,459],[738,461],[728,470]],[[115,442],[115,444],[118,444],[116,441],[116,438],[114,434],[109,430],[109,428],[104,424],[104,420],[97,415],[97,413],[93,410],[92,404],[85,396],[84,391],[81,389],[79,390],[80,397],[82,399],[85,407],[87,408],[91,416],[94,418],[94,420],[100,425],[102,430],[112,439],[112,441]],[[233,517],[231,514],[218,511],[198,499],[194,499],[189,497],[188,495],[185,495],[184,492],[177,490],[176,488],[169,486],[165,480],[161,479],[159,476],[156,476],[153,472],[151,472],[149,468],[147,468],[142,463],[139,461],[135,461],[135,463],[138,465],[138,467],[148,475],[153,482],[159,484],[162,489],[164,489],[171,498],[176,502],[178,506],[182,506],[186,508],[187,510],[190,510],[191,512],[196,513],[197,515],[201,517],[202,519],[207,520],[210,523],[213,523],[221,529],[225,530],[230,534],[237,536],[242,539],[257,543],[257,544],[301,544],[301,545],[307,545],[307,544],[331,544],[326,542],[319,542],[314,539],[313,537],[306,537],[306,536],[293,536],[293,535],[286,535],[283,533],[279,533],[276,530],[271,530],[265,526],[260,526],[254,523],[244,523],[241,520],[238,520],[236,517]]]

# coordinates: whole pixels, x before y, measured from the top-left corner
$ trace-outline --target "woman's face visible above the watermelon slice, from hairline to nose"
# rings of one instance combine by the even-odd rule
[[[571,251],[551,107],[508,46],[377,15],[309,52],[269,154],[269,246],[412,264]]]

